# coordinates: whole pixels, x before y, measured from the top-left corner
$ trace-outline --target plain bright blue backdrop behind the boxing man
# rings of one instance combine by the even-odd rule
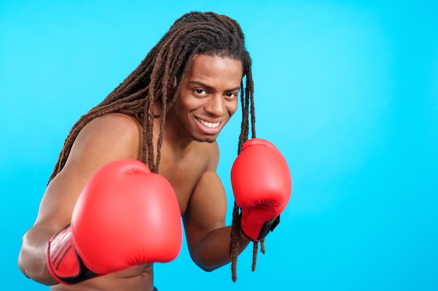
[[[234,17],[253,58],[257,137],[294,188],[267,254],[212,273],[180,257],[165,290],[438,290],[435,1],[0,1],[3,290],[74,121],[190,10]],[[240,116],[221,133],[229,195]]]

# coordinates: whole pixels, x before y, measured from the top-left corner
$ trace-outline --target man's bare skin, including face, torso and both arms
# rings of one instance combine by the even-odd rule
[[[216,173],[216,137],[236,112],[242,78],[241,62],[197,55],[180,94],[167,114],[159,173],[173,186],[192,260],[213,271],[229,263],[231,227],[225,225],[227,197]],[[155,112],[160,112],[160,102]],[[160,119],[154,123],[154,144]],[[143,264],[76,285],[58,284],[45,265],[48,240],[70,223],[73,207],[92,174],[119,158],[141,160],[143,128],[131,116],[106,114],[80,131],[63,170],[51,181],[34,225],[24,234],[19,266],[24,274],[51,290],[153,289],[153,265]],[[240,251],[250,241],[240,234]]]

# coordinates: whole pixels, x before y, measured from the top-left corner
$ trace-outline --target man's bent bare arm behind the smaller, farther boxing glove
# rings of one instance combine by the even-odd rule
[[[218,152],[197,182],[183,216],[190,255],[205,271],[213,271],[229,263],[231,227],[225,226],[227,196],[216,174],[217,164]],[[240,232],[239,253],[249,242]]]

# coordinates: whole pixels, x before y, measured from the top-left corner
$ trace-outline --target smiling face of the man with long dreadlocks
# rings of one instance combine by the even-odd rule
[[[185,75],[172,113],[194,140],[213,142],[236,112],[241,61],[198,54]]]

